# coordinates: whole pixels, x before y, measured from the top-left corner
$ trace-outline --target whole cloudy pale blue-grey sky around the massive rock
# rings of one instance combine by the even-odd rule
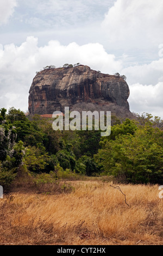
[[[0,0],[0,108],[28,109],[36,71],[127,76],[130,111],[163,119],[162,0]]]

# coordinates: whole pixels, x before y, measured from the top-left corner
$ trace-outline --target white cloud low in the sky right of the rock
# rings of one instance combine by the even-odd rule
[[[163,119],[163,58],[149,64],[122,69],[130,88],[130,110],[151,113]]]

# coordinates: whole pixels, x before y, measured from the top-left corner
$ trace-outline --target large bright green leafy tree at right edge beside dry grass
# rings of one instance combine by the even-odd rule
[[[121,181],[133,183],[163,181],[163,133],[146,125],[127,135],[120,135],[103,144],[95,156],[105,172]]]

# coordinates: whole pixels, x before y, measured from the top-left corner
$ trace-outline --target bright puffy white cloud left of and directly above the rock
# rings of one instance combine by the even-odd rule
[[[39,47],[37,38],[28,36],[20,46],[9,44],[1,47],[0,108],[14,106],[27,111],[28,92],[35,72],[46,65],[59,67],[65,63],[81,63],[110,74],[122,69],[122,62],[113,54],[106,53],[101,44],[79,46],[72,42],[61,45],[59,41],[51,40]]]

